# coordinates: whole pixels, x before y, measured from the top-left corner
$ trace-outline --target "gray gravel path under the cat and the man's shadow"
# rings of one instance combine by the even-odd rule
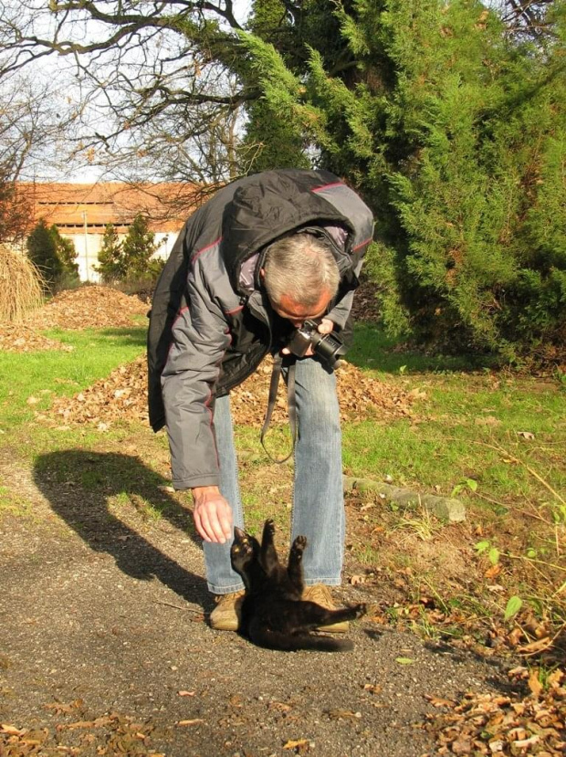
[[[427,697],[504,680],[369,621],[336,655],[212,631],[185,513],[109,512],[96,491],[8,470],[35,504],[0,521],[0,722],[12,729],[0,754],[416,757],[437,753]]]

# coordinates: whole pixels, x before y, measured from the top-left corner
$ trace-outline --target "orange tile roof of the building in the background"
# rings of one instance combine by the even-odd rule
[[[103,232],[107,224],[118,232],[127,230],[138,213],[147,216],[154,232],[178,231],[198,206],[200,188],[195,184],[18,184],[18,191],[34,207],[30,226],[41,218],[56,224],[61,232]]]

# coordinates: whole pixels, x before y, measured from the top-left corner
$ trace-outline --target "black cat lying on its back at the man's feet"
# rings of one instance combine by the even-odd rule
[[[318,649],[343,652],[353,648],[348,639],[316,636],[320,626],[330,626],[364,615],[366,605],[351,605],[328,610],[314,602],[301,600],[303,593],[302,554],[307,539],[298,536],[291,546],[288,567],[278,561],[273,537],[273,520],[266,520],[261,544],[241,529],[234,529],[230,551],[232,567],[242,576],[246,594],[242,603],[240,633],[258,647],[295,651]]]

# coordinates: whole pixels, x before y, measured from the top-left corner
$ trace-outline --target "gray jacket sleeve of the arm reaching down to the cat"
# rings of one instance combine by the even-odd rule
[[[198,260],[188,273],[186,302],[173,323],[162,372],[175,489],[219,483],[214,388],[230,343],[225,317],[208,292]]]

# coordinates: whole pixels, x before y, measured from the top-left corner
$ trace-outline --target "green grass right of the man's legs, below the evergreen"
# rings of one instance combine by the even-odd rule
[[[372,355],[376,378],[384,377],[383,366],[390,371],[396,363],[411,366],[395,383],[425,396],[414,404],[415,421],[376,425],[364,420],[343,426],[344,465],[351,475],[391,476],[398,486],[445,495],[473,478],[478,493],[491,499],[544,501],[549,489],[530,467],[553,489],[566,489],[566,394],[559,382],[474,372],[473,363],[464,372],[465,356],[446,359],[454,370],[446,368],[444,359],[433,360],[430,370],[428,356],[414,354],[409,360],[395,352],[392,360],[392,348],[378,329],[362,326],[356,331],[354,362],[367,365]]]

